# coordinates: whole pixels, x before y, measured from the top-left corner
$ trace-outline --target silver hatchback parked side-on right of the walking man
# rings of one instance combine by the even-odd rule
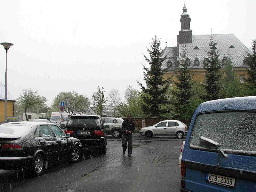
[[[144,127],[140,130],[140,135],[144,135],[147,138],[153,138],[153,136],[176,136],[181,139],[187,133],[187,125],[176,120],[160,121],[157,124]]]

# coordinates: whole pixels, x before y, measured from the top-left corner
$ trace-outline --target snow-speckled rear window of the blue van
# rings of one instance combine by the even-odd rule
[[[256,155],[256,113],[229,111],[199,114],[189,147],[212,150],[200,144],[201,136],[220,143],[225,152]]]

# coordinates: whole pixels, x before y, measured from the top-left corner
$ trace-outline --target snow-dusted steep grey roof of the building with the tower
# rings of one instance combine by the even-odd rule
[[[214,40],[216,40],[217,45],[216,48],[220,50],[220,62],[222,61],[224,55],[227,57],[228,53],[231,55],[232,64],[234,67],[248,67],[244,65],[244,58],[247,56],[246,52],[251,52],[244,44],[234,35],[234,34],[217,34],[214,36]],[[188,51],[188,57],[190,58],[190,68],[203,68],[203,61],[206,55],[206,50],[209,49],[210,37],[209,35],[193,35],[192,43],[186,44],[186,49]],[[231,46],[232,45],[232,46]],[[180,51],[182,44],[180,44]],[[234,48],[232,48],[234,47]],[[166,47],[167,48],[167,47]],[[198,49],[197,49],[198,48]],[[177,49],[176,49],[177,50]],[[168,49],[165,52],[170,52]],[[164,56],[164,54],[163,54]],[[169,57],[176,57],[174,52],[170,52]],[[199,59],[199,66],[194,65],[195,58]],[[162,68],[166,68],[167,64],[166,59]],[[172,69],[172,68],[171,68]],[[174,69],[174,67],[173,67]]]

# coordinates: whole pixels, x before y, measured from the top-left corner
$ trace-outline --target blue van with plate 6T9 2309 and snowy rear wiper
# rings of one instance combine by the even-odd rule
[[[180,191],[256,191],[256,97],[200,104],[181,158]]]

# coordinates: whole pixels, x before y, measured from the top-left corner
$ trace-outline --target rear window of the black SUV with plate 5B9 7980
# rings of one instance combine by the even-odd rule
[[[100,126],[100,118],[98,116],[71,116],[68,120],[68,125]]]

